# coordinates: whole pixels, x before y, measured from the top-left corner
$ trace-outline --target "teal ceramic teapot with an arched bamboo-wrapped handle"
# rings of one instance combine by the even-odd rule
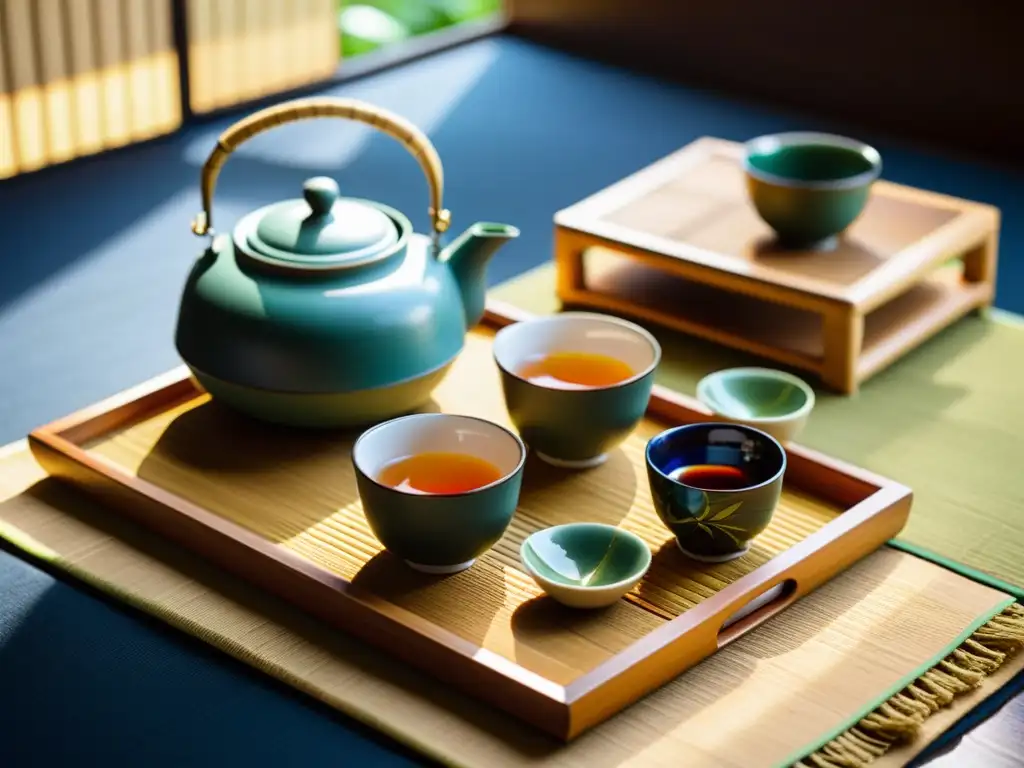
[[[429,237],[393,208],[340,197],[326,177],[214,234],[213,193],[228,156],[274,126],[323,117],[372,125],[419,161]],[[215,400],[292,426],[364,425],[425,404],[483,314],[487,262],[519,233],[476,223],[442,246],[450,213],[433,144],[403,118],[351,99],[288,101],[236,123],[201,183],[193,231],[212,240],[185,282],[178,353]]]

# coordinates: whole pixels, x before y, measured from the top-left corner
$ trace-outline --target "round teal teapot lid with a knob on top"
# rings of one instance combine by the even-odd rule
[[[383,210],[339,195],[332,178],[307,179],[304,202],[289,200],[257,212],[247,245],[257,256],[315,269],[365,264],[398,242],[398,226]]]

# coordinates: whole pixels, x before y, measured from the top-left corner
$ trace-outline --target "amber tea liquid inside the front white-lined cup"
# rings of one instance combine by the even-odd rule
[[[488,461],[440,452],[396,459],[377,476],[382,485],[413,494],[466,494],[501,478],[501,470]]]

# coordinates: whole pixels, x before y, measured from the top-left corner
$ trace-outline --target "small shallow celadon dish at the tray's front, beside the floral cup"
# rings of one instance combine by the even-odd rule
[[[611,605],[643,579],[651,560],[640,537],[596,522],[538,530],[519,558],[548,596],[571,608]]]

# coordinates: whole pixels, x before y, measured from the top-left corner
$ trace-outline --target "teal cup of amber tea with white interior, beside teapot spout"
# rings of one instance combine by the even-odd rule
[[[563,312],[503,328],[495,361],[509,418],[538,458],[596,467],[647,410],[662,348],[617,317]]]

